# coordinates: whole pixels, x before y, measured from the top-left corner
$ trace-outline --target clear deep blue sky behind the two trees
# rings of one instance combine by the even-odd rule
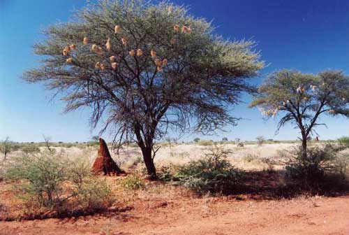
[[[191,8],[191,14],[214,20],[216,32],[225,38],[253,38],[262,59],[269,64],[254,79],[259,84],[267,73],[283,68],[318,73],[340,69],[349,74],[349,1],[347,0],[176,0]],[[86,141],[98,132],[89,127],[89,111],[62,114],[64,104],[45,91],[29,85],[20,76],[37,65],[31,45],[40,41],[40,30],[55,22],[66,22],[72,11],[86,5],[79,0],[0,0],[0,138],[13,141]],[[255,136],[295,139],[298,131],[285,127],[274,136],[276,121],[265,122],[256,109],[246,104],[235,107],[237,117],[246,118],[237,127],[216,136],[220,140]],[[349,120],[323,118],[318,128],[321,139],[349,134]],[[109,134],[105,134],[108,138]],[[193,139],[186,135],[184,141]]]

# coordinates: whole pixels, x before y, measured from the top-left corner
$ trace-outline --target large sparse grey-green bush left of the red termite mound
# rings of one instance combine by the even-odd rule
[[[15,180],[17,195],[29,211],[94,211],[113,202],[110,187],[91,175],[89,163],[50,152],[14,157],[5,178]]]

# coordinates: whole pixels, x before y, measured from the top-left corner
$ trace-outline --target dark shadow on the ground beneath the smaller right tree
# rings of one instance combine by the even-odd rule
[[[300,195],[341,197],[349,195],[349,184],[339,176],[326,176],[320,183],[309,185],[304,180],[285,178],[284,171],[248,171],[230,195],[256,200],[292,199]]]

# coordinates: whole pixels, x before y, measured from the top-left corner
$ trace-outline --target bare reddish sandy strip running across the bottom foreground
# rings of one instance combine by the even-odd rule
[[[0,234],[349,234],[349,197],[281,201],[172,199],[132,211],[64,220],[0,222]]]

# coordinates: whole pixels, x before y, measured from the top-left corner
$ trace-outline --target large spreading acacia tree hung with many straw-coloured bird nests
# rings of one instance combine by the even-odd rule
[[[264,66],[252,41],[225,41],[204,19],[168,2],[100,1],[45,30],[41,65],[24,75],[61,93],[65,111],[89,106],[114,141],[136,141],[152,178],[154,141],[168,127],[214,131],[235,124],[228,105],[255,88]]]

